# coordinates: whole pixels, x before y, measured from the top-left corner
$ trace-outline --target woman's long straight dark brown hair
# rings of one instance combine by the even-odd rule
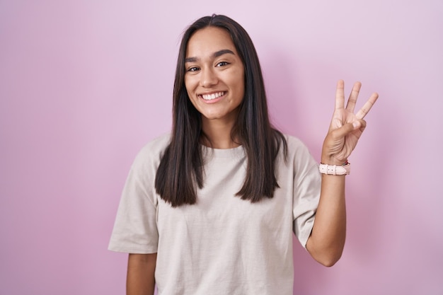
[[[227,16],[205,16],[189,26],[180,44],[173,91],[173,128],[171,143],[164,151],[156,173],[156,192],[172,207],[197,202],[197,187],[203,187],[203,165],[200,137],[200,112],[190,102],[185,88],[185,57],[188,41],[193,33],[214,26],[227,30],[243,62],[245,96],[239,106],[238,118],[231,131],[245,149],[248,166],[246,178],[237,196],[258,202],[272,198],[279,187],[275,177],[275,158],[287,141],[272,128],[267,114],[265,85],[257,52],[246,30]]]

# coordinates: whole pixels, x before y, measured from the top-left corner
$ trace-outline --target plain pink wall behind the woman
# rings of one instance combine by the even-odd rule
[[[248,30],[273,122],[317,159],[336,81],[380,94],[343,258],[296,244],[294,294],[443,294],[441,0],[0,1],[0,294],[124,294],[122,185],[171,127],[183,29],[212,13]]]

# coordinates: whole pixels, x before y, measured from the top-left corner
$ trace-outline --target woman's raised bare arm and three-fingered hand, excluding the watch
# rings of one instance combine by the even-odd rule
[[[366,122],[363,120],[378,98],[377,93],[364,103],[354,114],[357,97],[362,86],[357,82],[345,107],[345,85],[338,81],[335,94],[335,110],[321,152],[321,163],[342,166],[357,145]],[[306,249],[311,256],[325,266],[337,262],[345,246],[346,207],[345,175],[323,174],[321,178],[321,195],[318,202],[316,219]]]

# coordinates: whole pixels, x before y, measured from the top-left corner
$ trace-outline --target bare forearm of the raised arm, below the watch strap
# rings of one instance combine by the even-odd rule
[[[321,196],[306,249],[326,266],[337,262],[345,246],[345,175],[322,175]]]

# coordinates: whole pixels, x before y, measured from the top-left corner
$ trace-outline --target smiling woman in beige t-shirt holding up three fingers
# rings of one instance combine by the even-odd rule
[[[292,294],[292,231],[323,265],[345,243],[345,175],[375,103],[354,114],[338,82],[322,164],[270,125],[258,57],[226,16],[183,35],[173,130],[139,152],[110,250],[130,253],[127,294]],[[320,169],[319,169],[320,168]],[[155,273],[155,279],[154,279]]]

